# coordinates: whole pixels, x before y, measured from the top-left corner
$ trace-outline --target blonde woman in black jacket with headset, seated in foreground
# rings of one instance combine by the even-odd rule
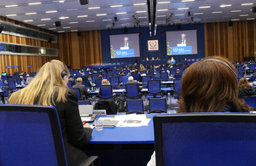
[[[82,124],[79,115],[78,96],[67,88],[69,72],[60,60],[51,60],[41,67],[26,88],[10,96],[9,104],[55,106],[61,123],[61,131],[68,165],[80,165],[88,157],[84,153],[92,129]]]

